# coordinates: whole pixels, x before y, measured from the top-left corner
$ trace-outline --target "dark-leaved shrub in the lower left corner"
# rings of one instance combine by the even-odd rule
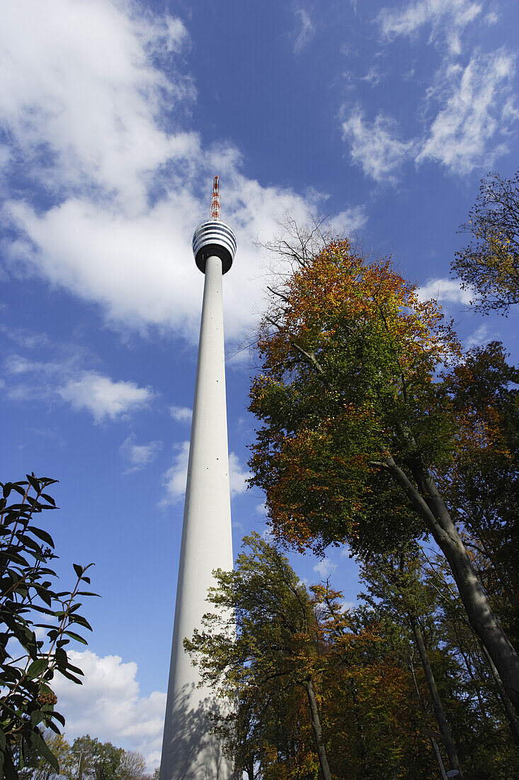
[[[57,577],[49,562],[57,556],[48,532],[36,516],[55,509],[47,491],[56,480],[27,474],[20,482],[0,483],[0,764],[5,778],[16,778],[25,757],[36,753],[58,771],[58,761],[42,737],[42,729],[58,733],[65,720],[56,709],[51,688],[56,672],[74,683],[83,674],[67,657],[70,640],[87,644],[78,629],[90,625],[78,610],[79,590],[90,583],[90,566],[74,564],[72,590],[55,590]],[[14,502],[8,502],[14,496]],[[43,622],[35,622],[37,620]],[[38,634],[36,629],[40,629]],[[46,636],[46,639],[38,638]]]

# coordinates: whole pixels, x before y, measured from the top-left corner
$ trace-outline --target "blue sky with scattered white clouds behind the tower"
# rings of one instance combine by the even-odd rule
[[[235,549],[263,530],[245,491],[248,342],[284,213],[330,215],[439,295],[489,170],[517,168],[517,3],[111,2],[0,6],[2,479],[60,480],[49,523],[65,581],[94,561],[102,599],[60,683],[69,736],[157,762],[175,603],[203,276],[190,249],[221,177],[238,253],[224,279]],[[355,566],[294,557],[355,600]],[[317,567],[315,569],[314,567]],[[67,580],[69,578],[69,580]]]

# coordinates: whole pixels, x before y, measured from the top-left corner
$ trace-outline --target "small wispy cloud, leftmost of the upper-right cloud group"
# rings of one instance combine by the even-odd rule
[[[343,122],[342,132],[351,146],[351,159],[376,182],[394,183],[395,172],[412,155],[415,146],[414,141],[402,141],[397,137],[394,119],[379,114],[369,125],[359,108]]]

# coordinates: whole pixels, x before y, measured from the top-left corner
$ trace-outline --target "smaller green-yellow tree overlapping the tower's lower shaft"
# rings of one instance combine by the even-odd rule
[[[217,610],[204,616],[203,630],[185,647],[203,681],[238,701],[237,712],[218,724],[238,769],[252,778],[259,764],[256,776],[274,777],[272,764],[301,768],[317,757],[324,780],[331,780],[317,694],[325,661],[312,601],[276,548],[258,534],[243,544],[249,552],[238,555],[235,570],[216,573],[208,600]],[[236,639],[228,625],[234,619]]]

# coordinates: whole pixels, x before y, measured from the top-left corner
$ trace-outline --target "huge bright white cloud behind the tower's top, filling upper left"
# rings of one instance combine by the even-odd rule
[[[36,185],[8,192],[3,218],[16,238],[4,254],[13,273],[100,305],[111,324],[172,328],[194,343],[203,277],[190,244],[218,172],[238,238],[224,280],[226,335],[240,339],[262,295],[254,239],[277,232],[285,211],[304,221],[326,196],[263,187],[242,175],[235,147],[201,146],[189,126],[196,92],[175,56],[187,42],[181,20],[125,2],[0,4],[9,159],[25,161]],[[33,200],[41,188],[46,211]]]

